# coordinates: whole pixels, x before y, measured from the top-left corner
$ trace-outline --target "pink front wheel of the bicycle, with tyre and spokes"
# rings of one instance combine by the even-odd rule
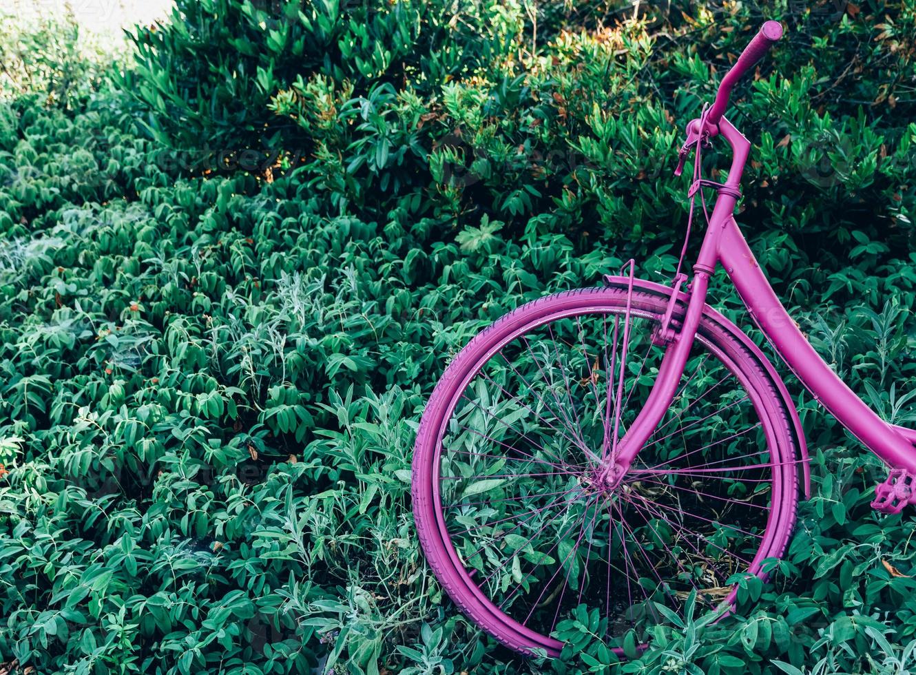
[[[423,413],[420,543],[454,602],[509,648],[557,656],[563,620],[585,611],[623,654],[664,623],[660,605],[682,613],[695,593],[729,606],[735,575],[762,577],[786,549],[789,418],[764,366],[711,319],[629,472],[601,480],[658,374],[667,302],[619,288],[529,302],[464,347]]]

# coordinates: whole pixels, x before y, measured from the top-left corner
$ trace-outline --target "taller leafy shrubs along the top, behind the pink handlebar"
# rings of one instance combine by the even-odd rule
[[[714,93],[706,63],[723,72],[759,13],[784,16],[791,49],[761,66],[753,95],[733,115],[761,147],[746,181],[746,203],[758,207],[748,216],[772,215],[800,234],[839,230],[841,243],[870,222],[879,229],[869,239],[910,243],[908,4],[839,13],[829,2],[753,11],[684,5],[684,16],[649,8],[637,22],[596,32],[565,29],[566,17],[548,5],[553,21],[540,22],[537,35],[553,38],[533,56],[534,28],[513,4],[471,5],[483,16],[460,5],[450,21],[462,29],[451,32],[441,23],[450,12],[434,3],[398,3],[392,12],[379,9],[387,3],[351,12],[315,3],[301,16],[298,2],[217,5],[179,3],[180,21],[136,36],[135,88],[160,140],[220,156],[257,150],[257,161],[230,162],[254,173],[299,167],[297,180],[334,215],[384,219],[411,204],[426,226],[454,227],[488,213],[507,233],[561,230],[577,244],[599,235],[667,238],[682,216],[673,205],[681,183],[667,162],[683,121]],[[210,10],[223,20],[208,21]],[[587,8],[572,18],[583,15]],[[392,44],[385,36],[407,29],[416,32],[403,55],[366,65],[372,50]],[[284,45],[303,34],[300,58]],[[202,35],[216,56],[193,56]],[[835,58],[820,58],[824,49]],[[231,113],[212,113],[222,110]],[[212,145],[200,147],[200,138]],[[855,228],[844,224],[851,213]],[[644,230],[647,220],[653,226]]]

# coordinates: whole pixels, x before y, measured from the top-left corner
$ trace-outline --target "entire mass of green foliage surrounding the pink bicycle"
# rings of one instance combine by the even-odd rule
[[[494,648],[410,516],[423,403],[475,332],[630,256],[671,275],[674,123],[761,12],[791,40],[730,114],[740,221],[812,343],[912,422],[916,11],[799,5],[180,0],[92,95],[5,84],[0,662],[912,670],[914,521],[869,510],[883,470],[804,394],[814,495],[773,581],[620,665],[587,611],[564,659]]]

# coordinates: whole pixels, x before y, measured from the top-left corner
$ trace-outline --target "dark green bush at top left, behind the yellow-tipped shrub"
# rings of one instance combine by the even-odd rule
[[[165,27],[137,28],[128,82],[162,140],[270,150],[284,137],[271,98],[303,77],[357,95],[403,82],[428,93],[504,59],[520,29],[518,5],[493,1],[194,0]]]

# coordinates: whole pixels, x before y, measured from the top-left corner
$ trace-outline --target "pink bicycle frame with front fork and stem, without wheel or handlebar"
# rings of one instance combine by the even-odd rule
[[[699,120],[688,126],[695,133],[699,133],[699,128]],[[913,447],[916,431],[885,422],[857,397],[814,351],[770,287],[733,217],[750,143],[725,117],[719,121],[717,131],[732,147],[734,159],[715,201],[703,245],[693,266],[690,300],[682,329],[667,347],[646,406],[617,444],[606,475],[617,477],[626,473],[671,406],[703,315],[709,278],[719,264],[735,284],[760,330],[823,408],[890,467],[916,473],[916,449]]]

